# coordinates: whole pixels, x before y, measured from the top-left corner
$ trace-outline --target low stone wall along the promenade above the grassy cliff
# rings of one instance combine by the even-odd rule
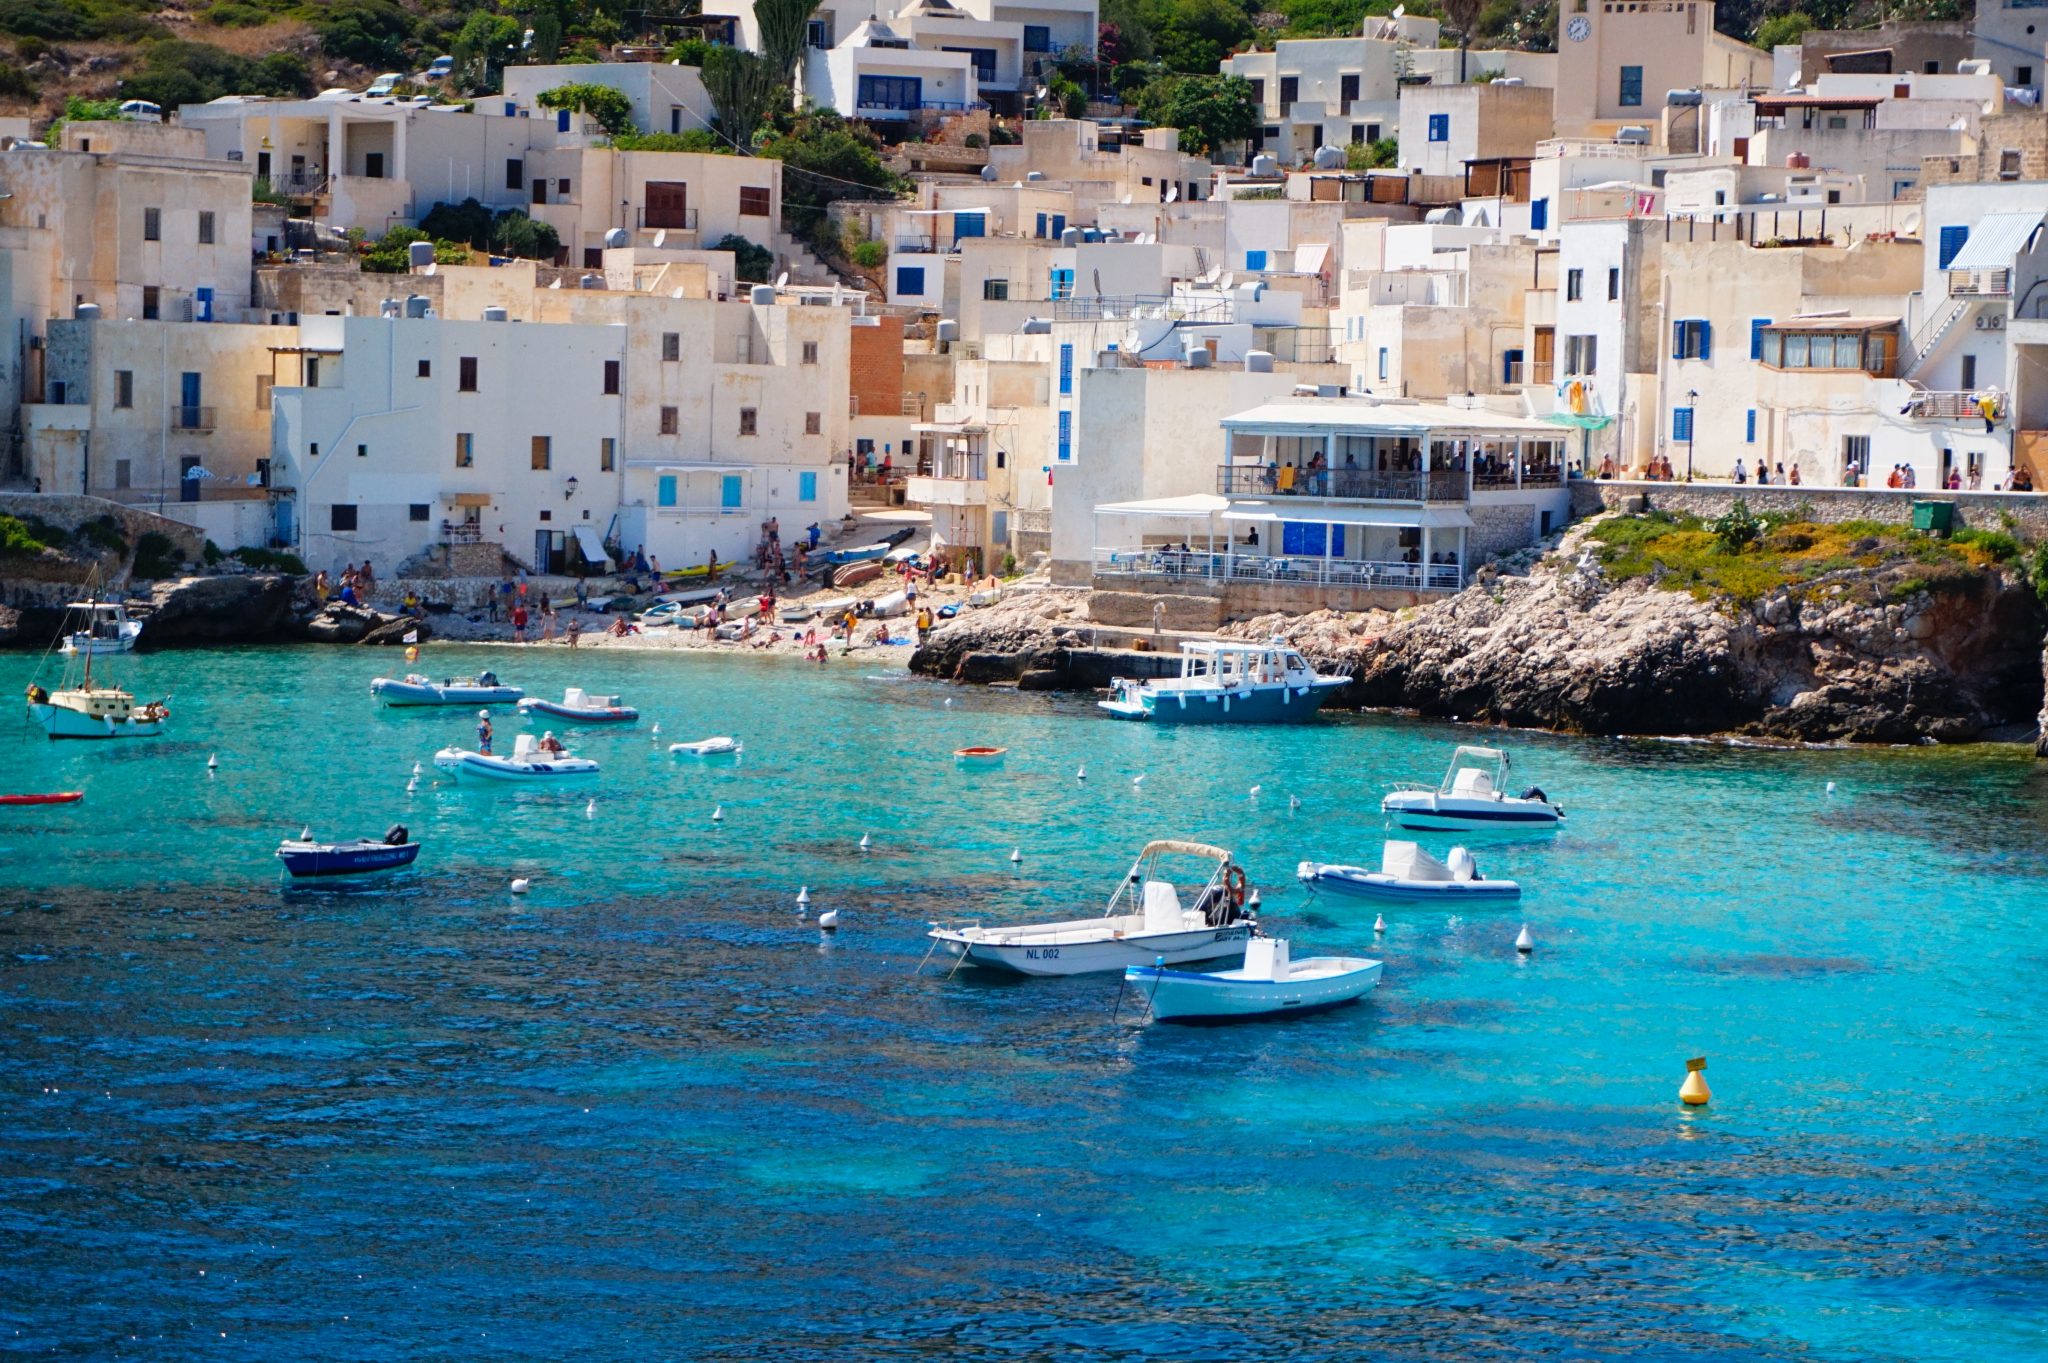
[[[1907,524],[1915,501],[1952,501],[1958,530],[2005,530],[2023,540],[2048,538],[2048,495],[2040,493],[1954,493],[1890,487],[1737,487],[1735,483],[1634,483],[1622,479],[1579,479],[1573,483],[1573,514],[1597,510],[1640,510],[1642,499],[1659,512],[1722,516],[1741,499],[1751,512],[1784,512],[1817,522],[1882,520]]]

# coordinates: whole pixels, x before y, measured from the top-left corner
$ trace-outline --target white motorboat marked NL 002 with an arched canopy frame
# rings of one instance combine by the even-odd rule
[[[1167,878],[1167,858],[1206,866],[1184,903]],[[963,964],[1016,974],[1090,974],[1153,962],[1182,964],[1239,956],[1251,937],[1245,917],[1245,872],[1223,847],[1163,839],[1145,843],[1102,917],[1063,923],[934,923],[932,952]],[[930,958],[932,952],[926,952]]]

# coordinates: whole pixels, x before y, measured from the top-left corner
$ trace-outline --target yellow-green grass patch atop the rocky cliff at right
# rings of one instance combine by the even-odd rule
[[[1962,585],[1985,567],[2019,557],[2017,540],[2001,532],[1960,532],[1933,538],[1874,520],[1835,524],[1724,516],[1616,516],[1591,528],[1597,557],[1614,581],[1649,579],[1696,600],[1733,598],[1749,604],[1833,573],[1888,573],[1886,596]]]

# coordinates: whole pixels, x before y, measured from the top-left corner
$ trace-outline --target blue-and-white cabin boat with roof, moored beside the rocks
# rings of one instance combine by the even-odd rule
[[[1161,724],[1282,724],[1313,718],[1350,677],[1321,673],[1286,643],[1192,639],[1178,677],[1116,677],[1100,700],[1116,718]]]

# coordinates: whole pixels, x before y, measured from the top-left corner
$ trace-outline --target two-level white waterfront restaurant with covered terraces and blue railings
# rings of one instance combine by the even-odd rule
[[[1475,553],[1563,524],[1567,434],[1448,403],[1270,401],[1223,420],[1214,493],[1098,505],[1096,575],[1456,591]]]

